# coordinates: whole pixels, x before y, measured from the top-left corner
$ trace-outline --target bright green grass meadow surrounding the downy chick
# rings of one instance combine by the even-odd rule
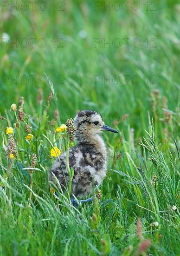
[[[180,3],[157,1],[153,11],[156,1],[148,7],[147,1],[138,2],[138,11],[129,5],[125,10],[123,1],[119,11],[103,9],[104,1],[65,1],[64,11],[58,10],[58,1],[55,10],[53,1],[46,1],[44,11],[37,4],[34,10],[29,5],[26,11],[10,11],[7,1],[1,37],[7,33],[19,41],[18,47],[1,42],[0,112],[6,120],[0,120],[0,255],[179,255]],[[22,47],[22,38],[29,46]],[[36,39],[34,47],[30,38]],[[38,45],[42,38],[44,48]],[[129,38],[127,47],[124,38]],[[131,44],[135,38],[139,47]],[[102,43],[95,45],[95,39]],[[111,40],[111,47],[103,39]],[[122,46],[116,47],[120,40]],[[127,83],[124,76],[129,76]],[[131,82],[134,76],[137,84]],[[39,89],[42,101],[37,100]],[[21,96],[26,116],[17,127],[10,106],[17,104],[18,115]],[[53,121],[56,109],[59,118]],[[55,135],[55,128],[81,109],[99,111],[119,134],[103,133],[109,164],[101,200],[75,209],[63,194],[55,196],[49,189],[54,161],[49,141],[65,150],[65,135]],[[32,127],[31,142],[25,140],[25,124]],[[7,125],[14,128],[14,160],[5,153]],[[39,170],[33,173],[28,208],[31,179],[23,168],[30,167],[33,153]]]

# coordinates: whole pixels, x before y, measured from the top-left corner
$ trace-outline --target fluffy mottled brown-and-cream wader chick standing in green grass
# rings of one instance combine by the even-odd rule
[[[105,125],[101,115],[91,110],[80,111],[74,118],[74,126],[77,145],[69,151],[69,165],[74,169],[71,192],[76,197],[83,197],[92,193],[93,186],[100,185],[106,176],[107,149],[99,134],[103,130],[117,131]],[[59,160],[51,167],[50,180],[54,181],[53,173],[64,190],[69,182],[66,152]]]

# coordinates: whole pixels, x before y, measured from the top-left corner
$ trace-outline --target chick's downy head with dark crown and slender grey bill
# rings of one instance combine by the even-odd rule
[[[77,128],[76,135],[78,135],[78,138],[81,135],[90,137],[101,133],[103,130],[117,133],[115,129],[104,124],[98,112],[92,110],[82,110],[78,112],[74,118],[74,125]]]

